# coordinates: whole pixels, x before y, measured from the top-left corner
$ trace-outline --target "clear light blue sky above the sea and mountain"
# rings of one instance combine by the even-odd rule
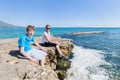
[[[120,0],[0,0],[0,20],[44,27],[120,27]]]

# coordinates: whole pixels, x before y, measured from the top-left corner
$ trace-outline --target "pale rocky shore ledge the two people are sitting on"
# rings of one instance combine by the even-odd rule
[[[41,42],[41,37],[35,38]],[[70,56],[73,49],[72,40],[55,37],[59,41],[61,51]],[[63,80],[70,61],[57,57],[54,47],[47,49],[46,65],[41,67],[24,56],[18,50],[18,38],[0,40],[0,80]],[[32,47],[37,48],[34,44]]]

